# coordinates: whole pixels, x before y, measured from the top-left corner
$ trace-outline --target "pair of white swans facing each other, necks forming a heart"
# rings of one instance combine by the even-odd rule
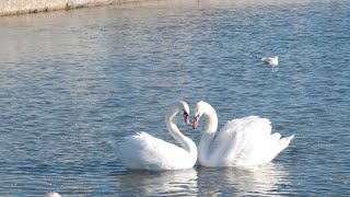
[[[197,151],[195,142],[176,126],[176,115],[180,112],[188,125],[189,107],[184,101],[170,108],[165,121],[167,130],[182,148],[139,132],[119,143],[122,163],[129,169],[150,171],[190,169],[197,159],[203,166],[258,165],[270,162],[294,137],[281,139],[280,134],[271,135],[270,121],[258,116],[230,120],[217,134],[217,113],[209,103],[201,101],[194,111],[192,128],[197,128],[201,116],[207,118],[207,124]]]

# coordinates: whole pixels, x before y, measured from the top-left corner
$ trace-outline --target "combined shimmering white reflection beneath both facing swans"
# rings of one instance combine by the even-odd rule
[[[280,164],[256,167],[203,167],[179,171],[125,171],[117,177],[121,196],[269,196],[289,185]],[[122,189],[121,189],[122,188]]]

